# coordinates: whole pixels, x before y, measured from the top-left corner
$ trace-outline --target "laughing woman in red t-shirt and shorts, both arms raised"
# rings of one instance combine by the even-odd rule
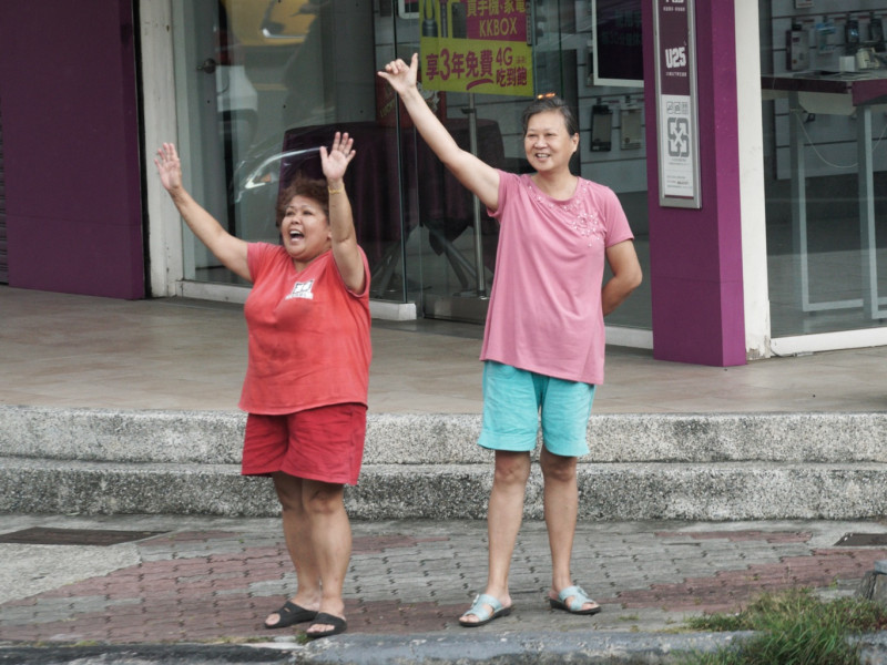
[[[351,553],[344,485],[356,484],[370,362],[369,268],[357,245],[344,176],[353,140],[320,147],[326,181],[296,177],[281,197],[281,244],[225,231],[182,186],[175,146],[154,160],[194,235],[253,288],[244,306],[249,355],[239,406],[248,412],[242,472],[269,475],[298,587],[267,628],[312,622],[308,637],[346,630]]]

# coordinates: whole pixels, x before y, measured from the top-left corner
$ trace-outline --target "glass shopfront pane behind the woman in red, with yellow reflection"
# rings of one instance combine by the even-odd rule
[[[374,272],[399,256],[400,145],[377,105],[373,1],[196,0],[176,11],[180,152],[195,198],[236,236],[276,243],[279,191],[297,173],[322,177],[319,146],[348,132],[358,241]],[[185,234],[186,279],[241,282]],[[402,272],[387,277],[374,297],[402,301]]]

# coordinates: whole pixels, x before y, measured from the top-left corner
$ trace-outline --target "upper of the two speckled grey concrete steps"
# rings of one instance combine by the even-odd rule
[[[0,456],[237,464],[239,411],[0,406]],[[370,413],[365,464],[486,463],[478,415]],[[887,462],[887,413],[594,415],[600,462]]]

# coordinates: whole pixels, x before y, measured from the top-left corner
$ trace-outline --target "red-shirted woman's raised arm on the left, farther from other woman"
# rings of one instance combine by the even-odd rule
[[[154,157],[160,182],[170,193],[179,214],[194,235],[232,273],[252,282],[246,262],[246,242],[222,228],[218,221],[206,212],[182,186],[182,163],[175,145],[164,143]]]

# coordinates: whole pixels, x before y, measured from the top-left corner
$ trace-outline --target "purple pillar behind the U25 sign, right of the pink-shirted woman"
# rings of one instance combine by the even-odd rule
[[[660,207],[659,166],[648,161],[653,355],[662,360],[744,365],[734,0],[696,0],[702,208]],[[653,2],[644,2],[645,25]],[[716,17],[716,19],[715,19]],[[644,33],[646,116],[656,116],[653,31]],[[646,125],[657,145],[656,125]]]

